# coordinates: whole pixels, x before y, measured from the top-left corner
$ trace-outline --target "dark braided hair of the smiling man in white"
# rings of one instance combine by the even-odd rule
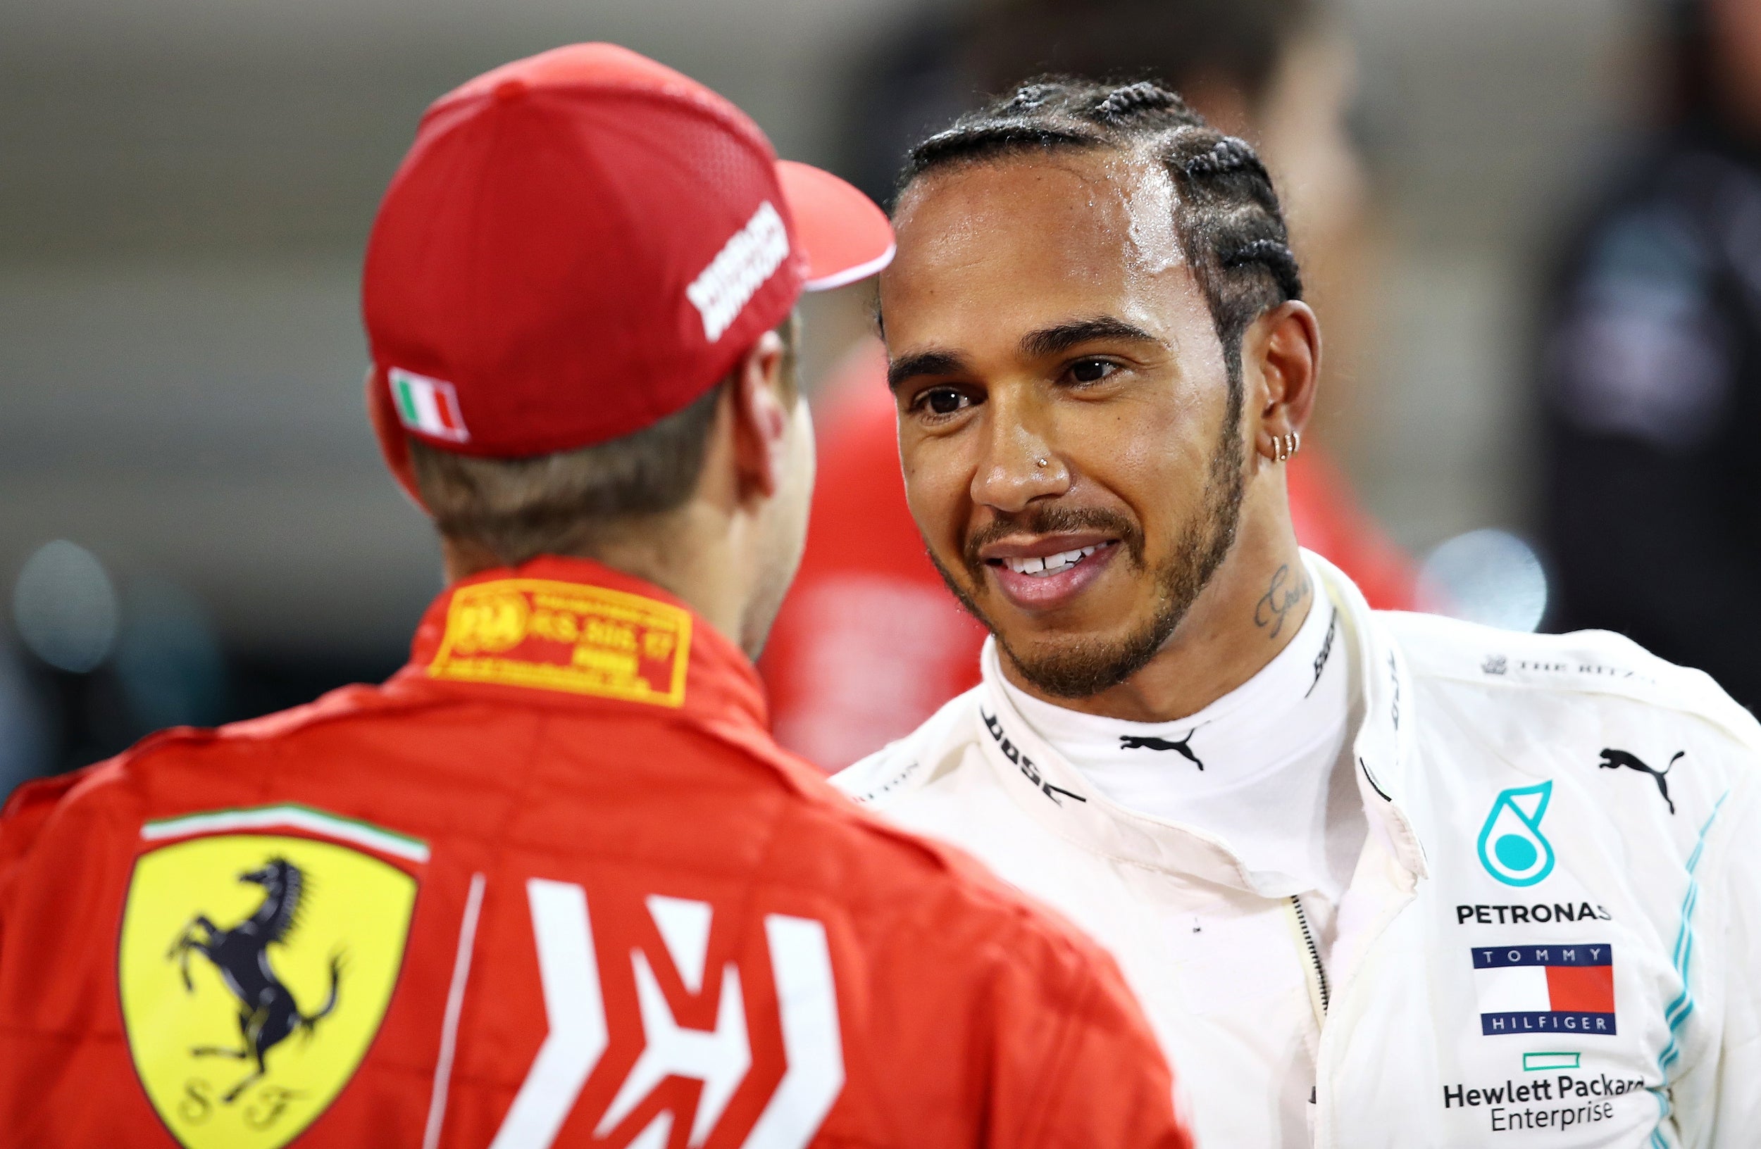
[[[1303,282],[1254,148],[1212,128],[1175,91],[1153,81],[1032,79],[912,148],[898,190],[947,167],[1064,148],[1150,155],[1173,178],[1175,234],[1210,304],[1238,406],[1242,336],[1264,311],[1301,299]]]

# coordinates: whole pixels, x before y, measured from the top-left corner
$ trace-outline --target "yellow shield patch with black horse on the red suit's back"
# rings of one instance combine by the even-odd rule
[[[354,1075],[416,880],[349,846],[217,834],[141,855],[118,978],[141,1084],[187,1149],[278,1149]]]

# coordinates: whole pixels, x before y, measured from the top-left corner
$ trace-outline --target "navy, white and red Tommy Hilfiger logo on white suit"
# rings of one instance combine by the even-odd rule
[[[1479,1031],[1615,1033],[1615,952],[1608,943],[1476,947]]]

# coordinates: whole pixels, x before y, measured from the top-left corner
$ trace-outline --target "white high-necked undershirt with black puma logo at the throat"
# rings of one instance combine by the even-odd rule
[[[1310,584],[1323,586],[1312,572]],[[1220,839],[1268,896],[1315,892],[1337,906],[1368,832],[1351,769],[1347,646],[1319,595],[1259,674],[1178,721],[1097,718],[1002,688],[1111,801]]]

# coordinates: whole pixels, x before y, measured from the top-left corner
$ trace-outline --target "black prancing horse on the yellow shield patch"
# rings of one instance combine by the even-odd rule
[[[261,869],[252,869],[238,876],[239,882],[252,882],[262,887],[262,904],[248,918],[232,929],[220,929],[206,913],[197,913],[183,927],[178,940],[166,954],[167,961],[176,961],[183,973],[183,987],[195,992],[190,980],[190,952],[197,952],[215,964],[227,989],[238,998],[238,1031],[243,1049],[224,1045],[197,1045],[190,1050],[195,1058],[234,1058],[252,1061],[255,1070],[245,1080],[232,1086],[222,1098],[231,1103],[247,1086],[259,1080],[268,1070],[264,1056],[296,1031],[310,1036],[317,1024],[336,1008],[336,987],[342,980],[342,954],[329,959],[331,987],[324,1005],[315,1014],[301,1014],[294,994],[276,977],[269,966],[269,945],[285,943],[287,936],[299,926],[299,901],[305,896],[306,878],[298,866],[287,859],[271,859]]]

